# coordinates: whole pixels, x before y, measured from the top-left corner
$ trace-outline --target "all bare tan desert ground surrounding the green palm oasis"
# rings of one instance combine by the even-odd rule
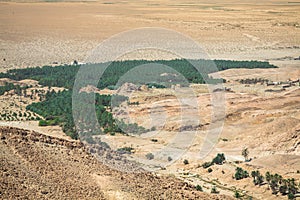
[[[41,127],[24,117],[40,117],[26,111],[28,104],[40,101],[38,97],[20,98],[9,91],[0,96],[1,114],[16,112],[21,117],[0,120],[0,198],[233,199],[238,191],[242,199],[287,199],[273,195],[268,184],[255,186],[251,177],[236,181],[233,175],[236,167],[242,167],[248,172],[259,170],[263,175],[267,171],[278,173],[299,183],[299,82],[286,88],[285,83],[269,86],[240,82],[268,79],[279,83],[300,78],[299,2],[0,1],[0,72],[74,60],[84,63],[102,41],[141,27],[167,28],[187,35],[212,59],[269,61],[278,68],[228,69],[210,74],[226,79],[224,87],[230,89],[224,92],[221,135],[204,159],[199,158],[199,151],[212,123],[212,93],[206,85],[133,91],[129,100],[139,105],[124,104],[114,115],[130,117],[132,122],[146,128],[154,126],[155,130],[138,136],[108,134],[101,139],[112,150],[132,147],[134,153],[125,157],[134,162],[172,143],[174,149],[184,149],[167,165],[163,165],[164,160],[154,159],[155,164],[145,167],[155,170],[153,173],[111,169],[89,154],[82,143],[66,136],[61,127]],[[122,59],[170,59],[168,56],[130,52]],[[1,81],[33,85],[27,94],[49,90],[33,80]],[[105,89],[100,93],[118,91]],[[182,95],[186,104],[182,106],[175,93]],[[188,103],[195,100],[199,107]],[[182,119],[182,112],[187,118]],[[185,146],[187,136],[193,140]],[[182,141],[174,142],[175,137]],[[244,148],[249,150],[249,162],[244,162],[241,155]],[[201,165],[217,153],[225,153],[226,162],[211,166],[212,172],[208,172]],[[184,164],[184,160],[189,163]],[[204,193],[197,191],[196,185],[201,185]],[[212,187],[220,194],[210,194]]]

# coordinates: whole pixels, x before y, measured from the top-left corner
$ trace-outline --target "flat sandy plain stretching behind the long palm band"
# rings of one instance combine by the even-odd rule
[[[299,11],[299,4],[279,0],[0,2],[0,70],[84,61],[104,39],[140,27],[186,34],[212,58],[285,65],[300,56]]]

